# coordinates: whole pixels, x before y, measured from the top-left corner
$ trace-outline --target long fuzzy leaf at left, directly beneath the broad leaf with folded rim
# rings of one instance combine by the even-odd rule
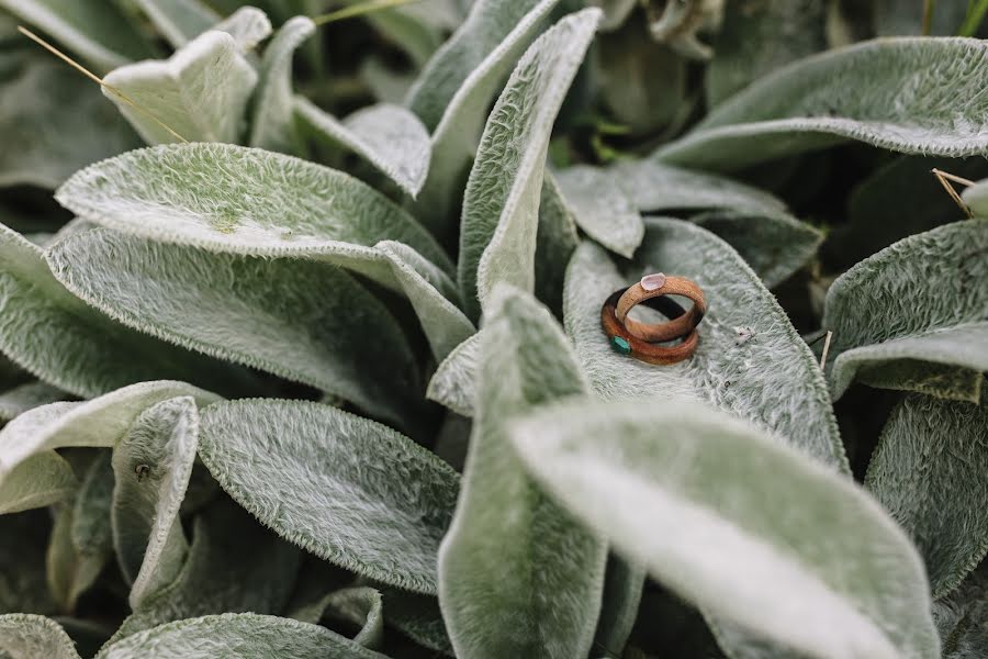
[[[407,339],[384,304],[343,270],[106,230],[68,236],[47,256],[77,295],[125,325],[317,387],[396,422],[414,405]]]

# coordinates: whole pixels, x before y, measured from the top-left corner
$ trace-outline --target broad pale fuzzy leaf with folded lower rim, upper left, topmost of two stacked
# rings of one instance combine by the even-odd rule
[[[93,222],[156,241],[346,267],[404,292],[438,359],[474,332],[457,306],[442,248],[411,215],[340,171],[259,149],[190,144],[90,167],[58,199]]]

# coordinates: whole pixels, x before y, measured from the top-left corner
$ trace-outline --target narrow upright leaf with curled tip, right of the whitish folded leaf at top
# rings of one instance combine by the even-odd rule
[[[293,119],[292,57],[315,30],[312,19],[295,16],[278,30],[265,48],[254,94],[250,146],[293,155],[301,152]]]

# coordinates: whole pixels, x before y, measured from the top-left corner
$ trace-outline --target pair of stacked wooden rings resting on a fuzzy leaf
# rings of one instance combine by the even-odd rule
[[[665,295],[683,295],[693,300],[693,308],[684,310]],[[628,317],[628,312],[644,304],[666,316],[665,323],[642,323]],[[666,277],[661,272],[642,277],[641,281],[610,294],[600,309],[600,324],[610,345],[624,355],[655,365],[682,361],[693,355],[699,343],[696,326],[707,312],[707,302],[700,288],[682,277]],[[682,338],[674,346],[656,343]]]

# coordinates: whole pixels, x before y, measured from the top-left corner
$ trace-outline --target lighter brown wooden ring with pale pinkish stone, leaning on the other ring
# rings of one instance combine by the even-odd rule
[[[661,295],[683,295],[693,300],[693,309],[667,323],[642,323],[628,317],[631,308],[645,300]],[[615,315],[619,323],[633,336],[650,343],[672,340],[689,333],[699,325],[707,313],[704,291],[693,281],[683,277],[666,277],[662,272],[647,275],[635,286],[628,287],[618,300]]]

